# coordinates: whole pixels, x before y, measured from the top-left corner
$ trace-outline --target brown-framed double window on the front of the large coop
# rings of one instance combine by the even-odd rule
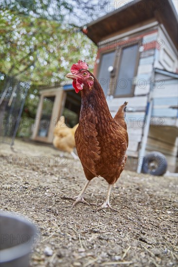
[[[97,78],[106,96],[109,91],[114,97],[133,95],[133,78],[137,72],[138,61],[137,43],[101,55]],[[112,72],[108,71],[110,66],[113,67]]]

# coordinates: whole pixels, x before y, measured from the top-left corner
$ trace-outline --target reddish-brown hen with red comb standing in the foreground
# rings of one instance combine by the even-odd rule
[[[87,183],[75,197],[73,206],[84,200],[84,192],[94,177],[103,177],[108,185],[107,198],[97,210],[110,207],[110,191],[120,177],[126,163],[128,134],[125,124],[126,102],[115,118],[109,112],[103,89],[85,62],[78,61],[66,75],[73,80],[75,92],[81,91],[82,103],[79,125],[75,132],[75,144]],[[87,203],[88,204],[88,203]]]

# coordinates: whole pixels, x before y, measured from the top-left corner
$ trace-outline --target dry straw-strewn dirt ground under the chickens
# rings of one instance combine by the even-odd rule
[[[177,178],[124,171],[111,192],[110,209],[95,212],[107,182],[95,178],[86,200],[76,196],[86,182],[81,163],[50,146],[1,144],[1,210],[28,217],[40,234],[33,267],[174,267],[178,264]]]

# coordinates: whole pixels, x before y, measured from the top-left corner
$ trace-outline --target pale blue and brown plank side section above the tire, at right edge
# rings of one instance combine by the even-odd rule
[[[155,73],[153,110],[146,152],[160,151],[176,171],[178,153],[178,79]]]

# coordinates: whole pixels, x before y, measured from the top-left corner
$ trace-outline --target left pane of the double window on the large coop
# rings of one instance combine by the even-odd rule
[[[105,53],[100,58],[101,63],[98,73],[98,81],[101,84],[106,96],[110,83],[110,72],[108,71],[108,67],[113,66],[114,64],[115,52],[116,51]]]

